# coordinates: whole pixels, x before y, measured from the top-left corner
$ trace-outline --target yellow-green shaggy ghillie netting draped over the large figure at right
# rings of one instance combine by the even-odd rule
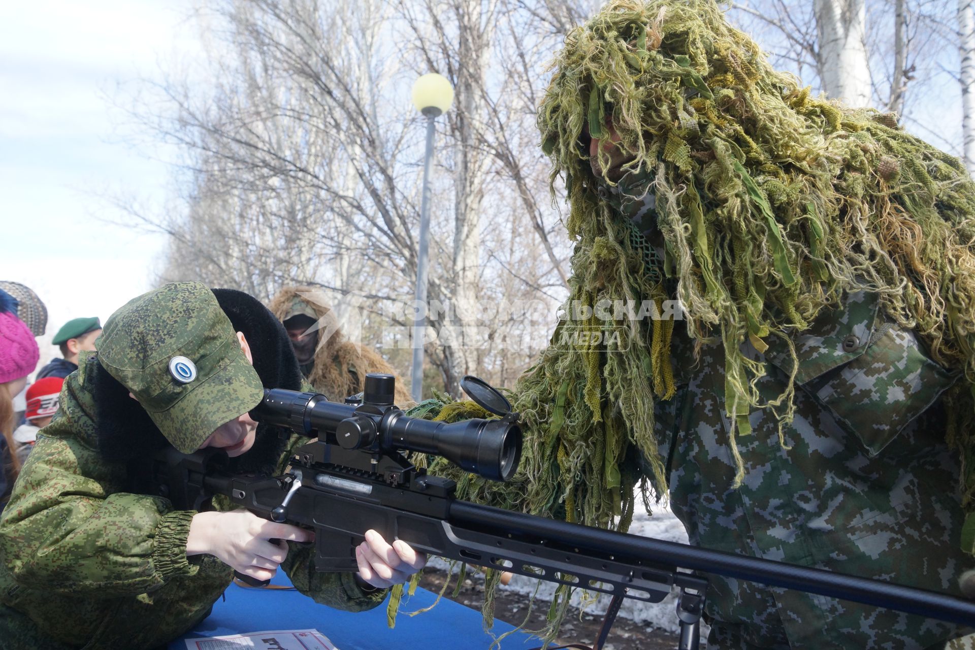
[[[566,225],[576,241],[569,300],[659,300],[676,287],[686,319],[679,326],[724,344],[736,449],[751,410],[788,423],[794,392],[790,381],[778,400],[762,403],[755,382],[763,366],[742,344],[763,351],[782,339],[791,347],[788,335],[846,292],[877,292],[890,319],[916,329],[936,361],[963,375],[947,397],[948,438],[971,510],[975,185],[960,163],[902,131],[891,114],[810,96],[710,0],[609,2],[567,35],[554,67],[538,126],[553,187],[563,176],[568,188]],[[625,169],[652,174],[667,280],[644,267],[628,224],[598,192],[612,183],[594,176],[585,129],[604,138],[610,124],[632,157]],[[601,158],[606,169],[609,156]],[[652,421],[654,401],[674,390],[674,322],[609,325],[637,344],[545,351],[513,391],[526,422],[516,483],[461,478],[463,498],[625,530],[641,479],[638,451],[665,485]],[[644,496],[647,489],[644,482]]]

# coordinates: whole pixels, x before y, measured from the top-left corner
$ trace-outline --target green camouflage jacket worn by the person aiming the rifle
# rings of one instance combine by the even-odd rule
[[[65,382],[0,518],[0,636],[12,647],[155,647],[205,619],[233,577],[212,555],[187,557],[195,513],[119,491],[126,469],[98,455],[88,369],[86,358]],[[282,564],[301,593],[352,611],[385,597],[315,571],[312,551],[292,546]]]

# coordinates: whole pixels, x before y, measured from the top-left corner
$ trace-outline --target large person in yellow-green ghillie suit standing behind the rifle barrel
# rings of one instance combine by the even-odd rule
[[[964,168],[894,115],[811,96],[710,0],[609,2],[554,68],[537,121],[570,204],[566,305],[652,314],[676,299],[683,320],[563,321],[512,392],[518,477],[461,476],[461,497],[626,530],[636,487],[647,509],[669,490],[694,545],[961,593],[975,565]],[[614,336],[562,337],[580,326]],[[709,648],[920,649],[965,632],[710,582]],[[553,620],[566,607],[563,590]]]

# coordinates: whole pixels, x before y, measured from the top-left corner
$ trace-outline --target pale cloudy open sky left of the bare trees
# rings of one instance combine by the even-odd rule
[[[102,322],[147,290],[158,235],[98,217],[122,215],[99,198],[161,205],[167,166],[124,143],[112,108],[118,84],[198,46],[183,0],[0,3],[0,280],[33,288],[50,320]],[[143,154],[150,154],[146,156]]]

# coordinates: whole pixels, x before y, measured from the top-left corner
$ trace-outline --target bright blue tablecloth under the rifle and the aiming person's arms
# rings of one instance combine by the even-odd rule
[[[290,585],[283,571],[272,584]],[[186,650],[185,639],[222,636],[265,630],[313,628],[329,637],[339,650],[480,650],[490,646],[491,634],[484,631],[481,612],[441,598],[437,606],[417,616],[405,612],[431,605],[437,597],[423,589],[404,596],[396,627],[386,626],[386,604],[368,612],[343,612],[320,605],[294,590],[246,589],[231,585],[226,599],[214,604],[214,611],[196,629],[170,644],[169,650]],[[513,628],[495,621],[491,630],[499,636]],[[501,650],[526,650],[541,640],[516,632],[501,641]]]

